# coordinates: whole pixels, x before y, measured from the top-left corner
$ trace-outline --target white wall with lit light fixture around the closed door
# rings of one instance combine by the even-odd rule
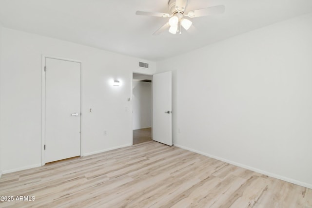
[[[2,39],[0,138],[4,148],[0,157],[3,172],[41,163],[42,54],[82,61],[82,153],[87,155],[131,144],[132,106],[128,98],[131,98],[132,73],[140,72],[138,58],[7,28],[2,29]],[[114,79],[119,79],[121,86],[112,86],[110,81]],[[88,113],[89,108],[93,113]]]

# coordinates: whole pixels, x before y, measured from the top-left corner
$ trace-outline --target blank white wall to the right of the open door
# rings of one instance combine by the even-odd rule
[[[311,37],[310,13],[159,62],[175,145],[312,188]]]

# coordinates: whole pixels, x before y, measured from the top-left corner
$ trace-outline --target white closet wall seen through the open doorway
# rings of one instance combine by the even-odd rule
[[[132,81],[133,130],[152,126],[152,83]]]

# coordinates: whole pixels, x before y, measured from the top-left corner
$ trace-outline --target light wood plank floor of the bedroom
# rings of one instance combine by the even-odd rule
[[[312,208],[312,189],[150,141],[4,174],[0,207]]]

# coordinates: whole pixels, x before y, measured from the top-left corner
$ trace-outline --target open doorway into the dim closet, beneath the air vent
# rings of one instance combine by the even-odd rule
[[[133,144],[152,141],[152,81],[153,76],[133,73]]]

